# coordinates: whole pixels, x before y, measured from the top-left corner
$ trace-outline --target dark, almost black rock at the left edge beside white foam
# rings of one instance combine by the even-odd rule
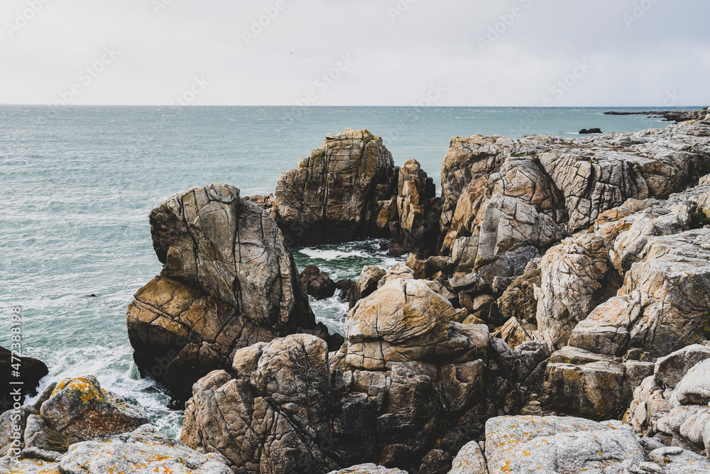
[[[3,392],[0,394],[0,412],[11,409],[13,397],[10,392],[16,388],[20,389],[21,397],[27,395],[37,395],[37,387],[40,379],[49,373],[47,365],[41,360],[31,357],[12,358],[13,354],[4,347],[0,347],[0,387]],[[19,359],[19,360],[18,360]],[[14,377],[14,372],[18,377]],[[10,385],[10,382],[23,382],[22,385]]]

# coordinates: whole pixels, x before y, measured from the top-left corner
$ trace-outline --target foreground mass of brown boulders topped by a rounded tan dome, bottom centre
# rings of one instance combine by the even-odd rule
[[[237,473],[305,465],[327,473],[362,462],[420,468],[437,459],[448,467],[470,436],[460,426],[515,409],[549,352],[544,343],[491,346],[486,326],[452,321],[433,282],[389,275],[351,310],[339,351],[296,334],[237,351],[235,376],[203,377],[182,441],[219,451]]]

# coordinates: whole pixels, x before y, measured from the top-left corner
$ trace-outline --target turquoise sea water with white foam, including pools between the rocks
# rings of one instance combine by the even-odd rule
[[[182,413],[138,377],[126,334],[133,293],[160,272],[148,224],[154,206],[213,182],[242,195],[273,192],[280,172],[346,127],[382,136],[395,164],[416,158],[438,183],[452,136],[572,138],[580,128],[667,125],[606,110],[0,106],[0,345],[9,347],[10,307],[20,306],[24,352],[50,368],[43,384],[97,375],[104,388],[146,407],[166,434],[178,434]],[[356,278],[363,265],[395,263],[378,248],[368,241],[294,255],[300,270],[314,263],[339,280]],[[346,305],[337,298],[313,307],[342,329]]]

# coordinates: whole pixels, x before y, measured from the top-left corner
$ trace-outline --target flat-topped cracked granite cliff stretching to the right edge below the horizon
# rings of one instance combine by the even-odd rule
[[[514,268],[496,260],[511,250],[542,253],[629,198],[666,199],[683,189],[709,169],[708,136],[708,124],[689,121],[572,141],[453,138],[442,165],[440,252],[459,270],[509,277]]]

